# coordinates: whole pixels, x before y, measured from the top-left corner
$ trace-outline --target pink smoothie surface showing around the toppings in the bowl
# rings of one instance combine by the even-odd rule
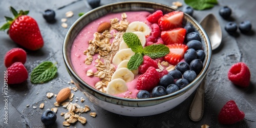
[[[140,21],[145,22],[146,17],[150,15],[150,12],[146,11],[139,11],[139,12],[125,12],[127,14],[127,20],[131,22]],[[104,17],[98,18],[94,20],[92,23],[85,26],[77,35],[75,38],[72,48],[71,48],[71,61],[72,65],[76,71],[76,73],[80,76],[81,79],[83,79],[86,83],[88,83],[90,86],[94,87],[95,84],[100,81],[98,77],[90,77],[87,76],[86,73],[88,70],[93,70],[93,72],[96,72],[97,69],[94,67],[97,63],[95,63],[95,59],[97,59],[98,54],[95,54],[93,56],[93,61],[91,65],[85,65],[84,59],[87,57],[83,54],[84,50],[87,50],[89,46],[89,40],[92,40],[94,38],[93,34],[97,32],[98,26],[103,22],[110,22],[110,19],[112,18],[119,18],[121,19],[121,13],[112,13],[105,15]],[[148,24],[150,25],[150,24]],[[116,96],[118,97],[130,97],[130,98],[136,98],[137,93],[139,90],[136,89],[136,84],[138,80],[138,75],[135,76],[135,79],[131,82],[127,82],[128,91],[118,94]]]

